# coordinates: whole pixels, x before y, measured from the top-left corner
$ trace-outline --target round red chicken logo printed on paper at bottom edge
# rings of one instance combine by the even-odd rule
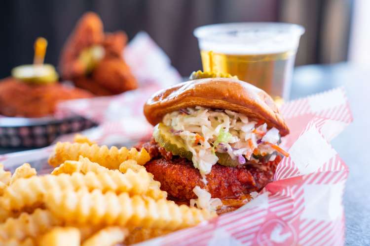
[[[257,235],[261,246],[290,246],[296,244],[296,233],[280,219],[271,219],[264,223]]]

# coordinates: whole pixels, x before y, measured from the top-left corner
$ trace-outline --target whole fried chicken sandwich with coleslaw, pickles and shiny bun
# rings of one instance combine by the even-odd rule
[[[137,147],[147,149],[148,172],[176,202],[232,211],[272,182],[288,155],[278,145],[289,128],[273,99],[235,77],[159,91],[144,114],[153,137]]]

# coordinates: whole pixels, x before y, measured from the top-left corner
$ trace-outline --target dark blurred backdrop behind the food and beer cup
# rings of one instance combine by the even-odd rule
[[[186,76],[201,68],[194,28],[224,22],[290,22],[304,26],[296,64],[347,60],[352,0],[2,0],[0,78],[33,61],[37,36],[49,41],[45,62],[56,65],[76,21],[97,12],[106,31],[131,39],[147,31]]]

